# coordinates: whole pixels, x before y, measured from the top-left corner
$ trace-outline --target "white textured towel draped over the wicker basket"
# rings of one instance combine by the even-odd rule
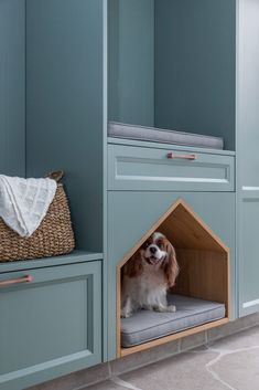
[[[52,179],[22,179],[0,175],[0,217],[23,238],[39,228],[56,192]]]

